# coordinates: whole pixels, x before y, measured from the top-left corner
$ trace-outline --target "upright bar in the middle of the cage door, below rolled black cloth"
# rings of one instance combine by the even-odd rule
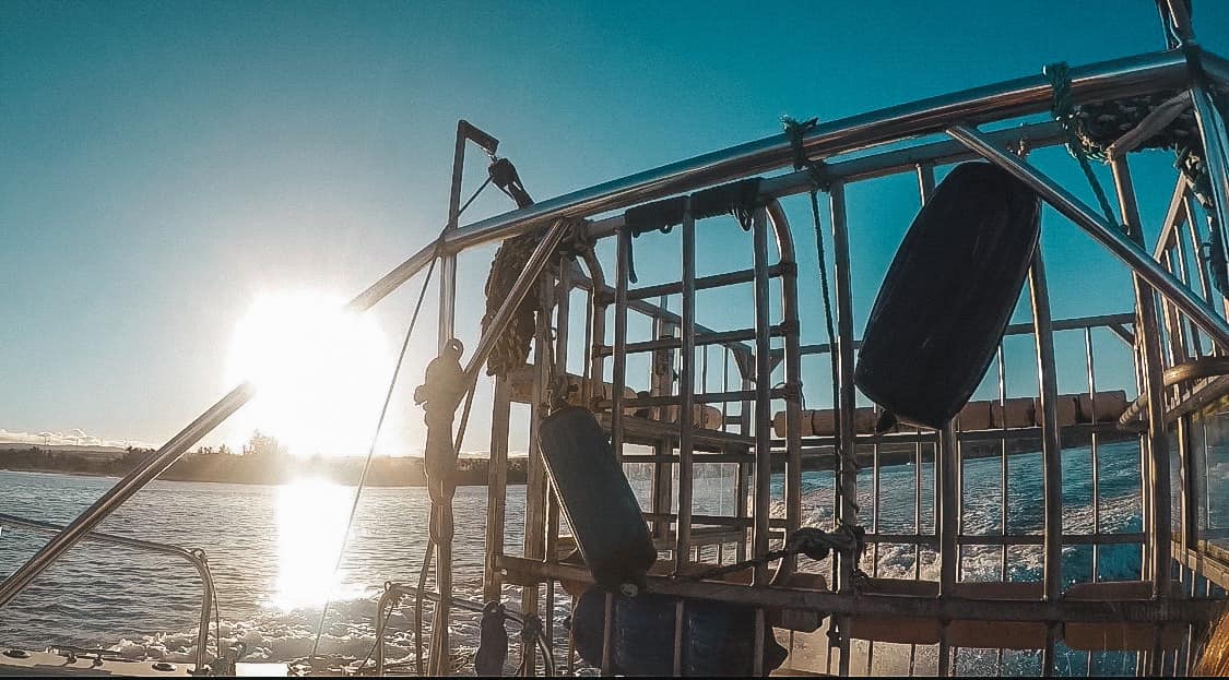
[[[682,223],[682,315],[680,329],[682,351],[678,371],[678,522],[675,527],[675,573],[687,567],[691,549],[692,522],[692,446],[696,426],[696,218],[691,211],[691,196],[683,199]],[[678,630],[682,630],[682,604],[677,611]],[[681,652],[676,649],[676,658]]]

